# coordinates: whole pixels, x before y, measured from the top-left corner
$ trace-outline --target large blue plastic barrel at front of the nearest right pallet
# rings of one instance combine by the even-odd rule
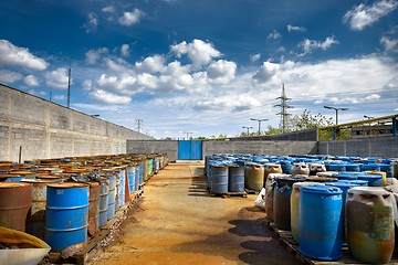
[[[343,191],[328,186],[298,189],[298,251],[314,259],[338,259],[343,242]]]

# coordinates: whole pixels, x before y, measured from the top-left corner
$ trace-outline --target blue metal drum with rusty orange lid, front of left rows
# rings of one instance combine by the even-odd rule
[[[83,183],[48,186],[45,242],[52,251],[87,242],[88,194]]]

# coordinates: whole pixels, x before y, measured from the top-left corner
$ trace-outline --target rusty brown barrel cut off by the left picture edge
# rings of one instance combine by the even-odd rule
[[[0,182],[0,226],[25,232],[32,193],[29,183]]]

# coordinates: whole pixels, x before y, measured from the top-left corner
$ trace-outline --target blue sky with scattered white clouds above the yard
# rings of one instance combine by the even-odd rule
[[[398,0],[0,0],[0,83],[181,139],[398,113]]]

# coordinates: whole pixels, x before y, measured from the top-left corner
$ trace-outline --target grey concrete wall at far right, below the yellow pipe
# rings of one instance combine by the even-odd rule
[[[336,141],[320,141],[320,153],[334,156],[359,156],[398,158],[397,137],[377,137]]]

